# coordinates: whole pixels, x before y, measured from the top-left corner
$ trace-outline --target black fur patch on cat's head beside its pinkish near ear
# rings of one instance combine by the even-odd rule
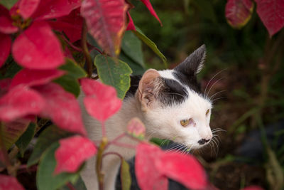
[[[163,80],[163,88],[158,93],[158,100],[163,105],[180,104],[188,97],[185,87],[177,81],[168,78],[161,78],[161,80]]]

